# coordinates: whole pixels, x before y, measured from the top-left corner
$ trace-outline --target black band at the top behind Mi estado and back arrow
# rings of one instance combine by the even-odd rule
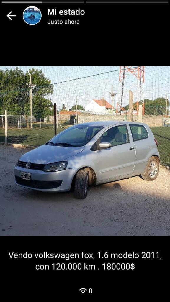
[[[25,61],[35,61],[37,66],[38,60],[40,65],[58,65],[61,61],[64,65],[80,65],[81,60],[83,65],[85,60],[87,65],[94,65],[98,59],[100,63],[96,65],[101,65],[102,60],[104,65],[106,60],[107,65],[113,65],[113,61],[131,56],[138,60],[155,56],[158,61],[168,53],[168,5],[35,4],[42,12],[42,19],[33,26],[22,18],[29,4],[0,5],[1,53],[4,59],[8,58],[6,65],[10,65],[10,60],[21,60],[22,57],[21,65],[26,65]],[[80,16],[79,25],[49,25],[47,8],[57,8],[57,11],[81,8],[85,15]],[[16,14],[12,20],[6,16],[10,11]],[[64,16],[67,17],[79,18]]]

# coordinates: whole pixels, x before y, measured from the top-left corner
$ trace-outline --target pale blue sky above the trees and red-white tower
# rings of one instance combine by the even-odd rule
[[[15,67],[0,66],[0,69],[6,70]],[[62,107],[63,103],[68,109],[71,108],[76,104],[76,95],[78,96],[78,104],[83,106],[92,99],[102,97],[111,103],[109,92],[112,91],[112,85],[114,92],[118,92],[120,66],[18,66],[24,72],[32,67],[42,69],[52,84],[58,83],[54,85],[54,93],[50,96],[52,101],[57,103],[58,109]],[[100,75],[93,76],[96,74]],[[82,77],[86,78],[78,79]],[[134,76],[127,76],[125,78],[126,88],[129,89],[135,82]],[[167,91],[169,95],[169,86],[170,66],[145,66],[144,98],[165,97]],[[116,97],[114,101],[116,106]],[[123,106],[126,106],[127,103],[128,98],[125,98]]]

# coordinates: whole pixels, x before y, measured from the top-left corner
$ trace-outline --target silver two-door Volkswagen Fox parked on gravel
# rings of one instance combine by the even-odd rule
[[[69,191],[87,196],[88,185],[141,175],[152,181],[159,173],[158,143],[143,123],[97,121],[58,133],[17,161],[15,183],[44,192]]]

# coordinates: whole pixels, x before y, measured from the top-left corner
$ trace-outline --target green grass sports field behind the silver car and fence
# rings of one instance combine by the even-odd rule
[[[66,129],[58,128],[57,133]],[[150,127],[156,140],[162,164],[170,164],[170,127]],[[13,128],[8,129],[8,143],[26,144],[30,146],[40,146],[54,136],[54,128]],[[5,143],[5,129],[0,128],[0,142]]]

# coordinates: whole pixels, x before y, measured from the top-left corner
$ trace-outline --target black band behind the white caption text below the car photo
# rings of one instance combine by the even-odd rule
[[[126,300],[159,299],[168,296],[169,287],[169,250],[167,237],[3,237],[1,263],[4,266],[1,275],[3,284],[8,287],[7,298],[56,300],[66,297],[85,297],[93,299],[113,298]],[[86,252],[117,252],[134,251],[159,252],[162,257],[157,259],[101,259],[83,262],[96,264],[128,262],[134,263],[133,271],[93,270],[93,271],[62,271],[35,270],[35,264],[82,262],[81,259],[10,259],[8,252],[30,253],[76,253]],[[81,294],[80,288],[92,288],[93,293]],[[88,297],[87,297],[88,296]]]

